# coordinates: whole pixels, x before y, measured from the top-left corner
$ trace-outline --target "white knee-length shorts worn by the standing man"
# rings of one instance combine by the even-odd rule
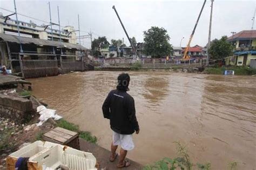
[[[134,148],[132,134],[119,134],[113,131],[113,145],[121,145],[122,149],[131,151]]]

